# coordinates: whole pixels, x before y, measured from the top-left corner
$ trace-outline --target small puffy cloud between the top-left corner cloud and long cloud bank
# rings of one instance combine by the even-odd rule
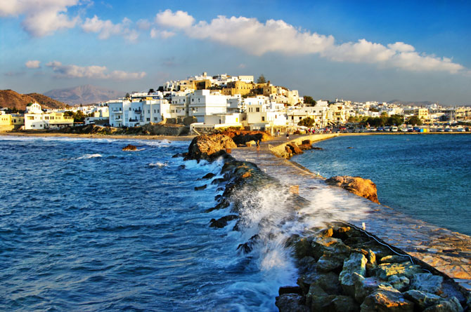
[[[138,32],[130,29],[132,22],[129,18],[123,18],[118,24],[113,24],[111,20],[100,20],[98,16],[94,15],[93,18],[86,18],[82,24],[84,32],[93,32],[98,34],[99,39],[108,39],[110,36],[122,35],[127,41],[136,41],[138,39]]]

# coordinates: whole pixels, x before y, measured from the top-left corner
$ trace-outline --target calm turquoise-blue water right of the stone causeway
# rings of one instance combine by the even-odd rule
[[[323,150],[292,160],[324,177],[371,179],[380,203],[471,235],[471,135],[350,136],[315,146]]]

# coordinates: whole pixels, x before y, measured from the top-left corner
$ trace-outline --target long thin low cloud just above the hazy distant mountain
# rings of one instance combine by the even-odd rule
[[[58,78],[89,78],[89,79],[116,79],[116,80],[131,80],[141,79],[146,76],[145,72],[123,72],[112,71],[108,73],[105,66],[86,66],[81,67],[77,65],[63,65],[61,62],[53,61],[46,64],[50,67]]]

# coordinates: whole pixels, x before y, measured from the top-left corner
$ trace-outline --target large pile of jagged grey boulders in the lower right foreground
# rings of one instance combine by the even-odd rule
[[[464,311],[471,303],[452,279],[354,226],[310,231],[287,242],[300,276],[298,287],[280,288],[280,311]]]

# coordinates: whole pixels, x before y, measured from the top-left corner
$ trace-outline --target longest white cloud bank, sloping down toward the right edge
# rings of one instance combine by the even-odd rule
[[[419,53],[404,42],[387,46],[366,39],[335,43],[333,36],[317,34],[294,27],[283,20],[259,22],[256,18],[218,16],[210,22],[195,22],[183,11],[166,10],[157,13],[155,22],[161,27],[183,32],[195,39],[209,40],[234,46],[253,55],[284,53],[287,55],[320,55],[335,62],[354,62],[397,68],[415,72],[464,73],[467,69],[447,57]],[[151,31],[157,37],[164,30]],[[162,36],[160,36],[162,37]]]

